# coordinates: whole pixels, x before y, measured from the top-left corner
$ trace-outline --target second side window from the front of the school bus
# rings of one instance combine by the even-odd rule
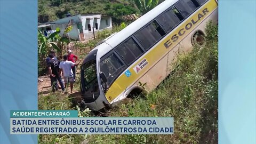
[[[116,52],[127,65],[130,65],[134,60],[140,57],[143,50],[141,50],[139,45],[135,43],[132,38],[129,38],[126,42],[116,48]]]

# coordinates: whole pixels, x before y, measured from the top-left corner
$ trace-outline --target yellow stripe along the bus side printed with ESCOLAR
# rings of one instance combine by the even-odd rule
[[[124,74],[120,75],[115,82],[110,86],[106,93],[107,100],[111,103],[118,95],[124,93],[126,89],[137,82],[148,70],[161,60],[167,53],[169,53],[175,45],[179,44],[191,31],[193,31],[199,23],[201,23],[208,15],[210,15],[218,4],[214,0],[209,0],[202,7],[197,10],[193,15],[190,15],[171,33],[165,36],[161,42],[158,42],[155,47],[152,47],[148,52],[142,55],[140,59],[134,62],[129,68],[132,75],[130,77]],[[138,74],[135,73],[133,68],[137,66],[143,59],[146,59],[148,64],[145,68],[141,69]],[[124,72],[125,72],[124,71]],[[129,87],[127,87],[129,86]]]

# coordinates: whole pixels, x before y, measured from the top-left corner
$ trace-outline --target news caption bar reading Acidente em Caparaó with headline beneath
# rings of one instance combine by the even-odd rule
[[[77,110],[11,110],[11,134],[173,134],[173,117],[78,117]]]

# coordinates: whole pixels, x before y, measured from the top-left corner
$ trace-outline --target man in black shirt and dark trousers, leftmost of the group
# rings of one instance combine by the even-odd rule
[[[62,91],[65,91],[64,84],[62,82],[61,76],[59,75],[59,66],[60,66],[60,61],[57,59],[54,59],[54,55],[49,54],[49,60],[48,63],[48,69],[50,73],[50,78],[51,78],[51,83],[52,83],[52,91],[54,92],[55,89],[58,91],[58,82],[60,83]]]

